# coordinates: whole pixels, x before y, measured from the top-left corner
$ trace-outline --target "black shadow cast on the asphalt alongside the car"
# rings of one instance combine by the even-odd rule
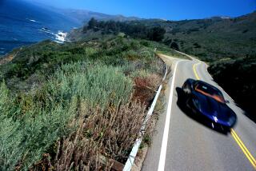
[[[178,108],[182,110],[183,113],[186,114],[187,117],[190,117],[194,121],[197,121],[201,125],[206,126],[209,129],[212,129],[218,133],[222,133],[224,135],[227,135],[230,131],[226,129],[222,129],[220,125],[214,125],[211,121],[209,121],[206,117],[203,115],[200,115],[199,113],[194,113],[189,107],[186,106],[186,94],[180,87],[176,87],[176,92],[178,94],[178,101],[177,105]]]

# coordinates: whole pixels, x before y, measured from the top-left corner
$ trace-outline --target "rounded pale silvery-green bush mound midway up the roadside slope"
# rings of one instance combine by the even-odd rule
[[[113,66],[94,65],[78,62],[62,66],[49,83],[55,101],[78,97],[89,107],[101,106],[102,111],[109,105],[126,103],[132,93],[132,80]]]

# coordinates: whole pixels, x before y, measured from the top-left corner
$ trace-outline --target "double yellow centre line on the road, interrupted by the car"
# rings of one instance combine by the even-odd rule
[[[200,80],[199,76],[198,76],[198,72],[196,70],[196,66],[198,66],[201,62],[198,62],[196,64],[193,65],[193,70],[194,70],[194,75],[195,78],[197,78],[198,80]],[[253,165],[254,169],[256,170],[256,160],[255,158],[251,155],[250,151],[246,148],[246,145],[244,145],[244,143],[242,142],[242,140],[240,139],[240,137],[238,137],[238,134],[235,133],[234,129],[230,130],[230,133],[232,135],[232,137],[234,138],[234,140],[237,142],[237,144],[239,145],[240,149],[242,149],[242,152],[246,155],[246,157],[248,158],[248,160],[250,161],[251,165]]]

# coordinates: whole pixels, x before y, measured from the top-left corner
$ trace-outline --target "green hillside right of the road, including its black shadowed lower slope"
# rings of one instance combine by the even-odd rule
[[[214,81],[256,121],[252,101],[256,99],[256,12],[238,18],[166,22],[162,26],[166,28],[163,42],[209,62]]]

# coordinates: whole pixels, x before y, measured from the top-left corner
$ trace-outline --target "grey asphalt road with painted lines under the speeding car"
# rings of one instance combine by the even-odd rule
[[[164,60],[167,64],[172,63],[174,75],[166,90],[166,113],[159,117],[142,170],[255,170],[256,124],[213,81],[206,63],[197,59],[164,57]],[[230,133],[220,133],[177,105],[178,90],[187,78],[201,79],[222,90],[226,100],[230,101],[228,105],[238,116]]]

